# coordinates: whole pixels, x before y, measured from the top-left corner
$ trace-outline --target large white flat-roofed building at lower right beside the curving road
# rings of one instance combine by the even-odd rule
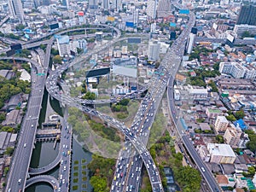
[[[207,149],[212,163],[233,164],[236,160],[236,154],[228,144],[208,143]]]

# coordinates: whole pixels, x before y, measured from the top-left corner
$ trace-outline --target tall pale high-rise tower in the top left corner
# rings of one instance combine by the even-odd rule
[[[9,12],[13,18],[18,18],[24,23],[24,11],[21,0],[9,0]]]

